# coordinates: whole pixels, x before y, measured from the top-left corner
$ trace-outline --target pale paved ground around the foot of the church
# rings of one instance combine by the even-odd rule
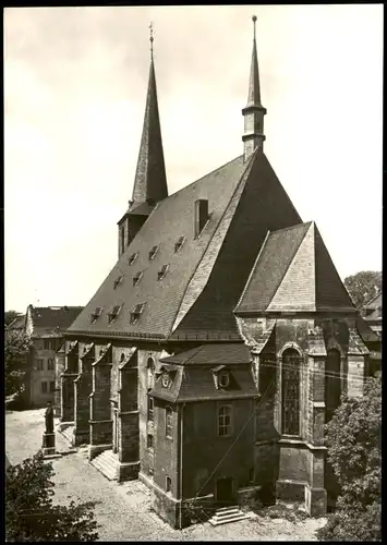
[[[44,412],[41,409],[7,413],[5,450],[11,463],[20,463],[41,447]],[[60,434],[57,449],[69,450]],[[149,492],[143,483],[109,482],[87,463],[87,450],[55,459],[52,467],[56,502],[96,501],[100,541],[315,541],[315,530],[325,523],[325,519],[290,522],[255,516],[216,528],[207,522],[177,531],[150,511]]]

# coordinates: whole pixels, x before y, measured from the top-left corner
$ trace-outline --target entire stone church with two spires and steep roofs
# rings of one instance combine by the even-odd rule
[[[119,259],[60,354],[61,428],[109,479],[146,483],[176,528],[279,497],[326,512],[323,426],[341,392],[362,393],[370,352],[264,154],[255,36],[242,114],[243,155],[168,195],[152,52]]]

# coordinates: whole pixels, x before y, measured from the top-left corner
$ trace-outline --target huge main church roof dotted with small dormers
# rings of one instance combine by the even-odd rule
[[[208,199],[209,221],[194,239],[194,203]],[[232,310],[238,302],[267,229],[300,222],[300,216],[262,149],[243,162],[230,161],[157,204],[99,290],[69,328],[87,335],[130,338],[240,339]],[[180,237],[186,237],[174,253]],[[148,253],[159,250],[154,259]],[[129,257],[138,252],[133,265]],[[157,272],[169,265],[166,277]],[[143,271],[136,286],[133,276]],[[114,280],[123,280],[114,289]],[[146,303],[140,319],[130,312]],[[122,305],[116,320],[108,313]],[[102,307],[92,324],[90,315]]]

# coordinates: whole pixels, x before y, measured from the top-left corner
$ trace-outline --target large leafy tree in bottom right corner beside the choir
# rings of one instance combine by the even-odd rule
[[[364,396],[343,399],[326,425],[328,461],[341,487],[322,541],[380,541],[382,380],[366,380]]]

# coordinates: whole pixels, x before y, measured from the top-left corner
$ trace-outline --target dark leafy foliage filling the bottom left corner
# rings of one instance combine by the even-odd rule
[[[52,464],[41,452],[5,474],[5,541],[80,542],[98,540],[94,504],[52,505]]]

